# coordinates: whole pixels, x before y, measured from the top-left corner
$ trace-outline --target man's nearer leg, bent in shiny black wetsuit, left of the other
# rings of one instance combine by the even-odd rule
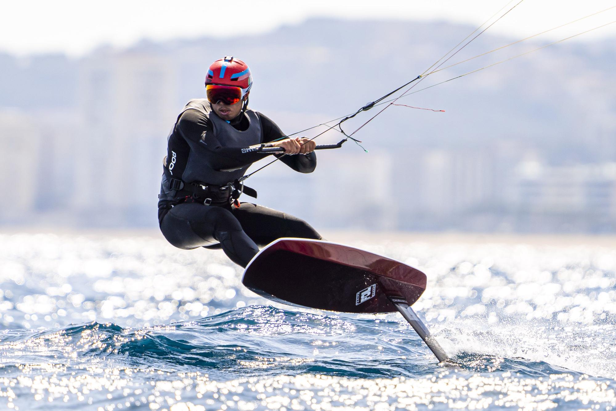
[[[194,202],[178,204],[163,217],[160,230],[169,243],[185,250],[219,242],[222,251],[242,267],[259,252],[237,218],[222,207]]]

